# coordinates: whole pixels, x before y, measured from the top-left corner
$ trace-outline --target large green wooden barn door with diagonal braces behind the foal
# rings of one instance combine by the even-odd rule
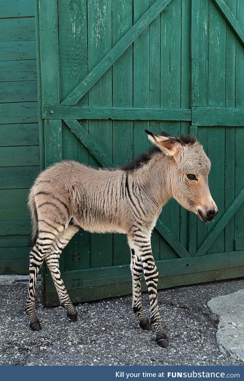
[[[157,222],[160,288],[244,275],[243,15],[243,0],[39,0],[43,168],[125,164],[148,149],[145,129],[193,133],[212,161],[215,221],[172,200]],[[125,236],[81,230],[60,266],[80,302],[131,293],[129,263]],[[43,289],[58,303],[46,272]]]

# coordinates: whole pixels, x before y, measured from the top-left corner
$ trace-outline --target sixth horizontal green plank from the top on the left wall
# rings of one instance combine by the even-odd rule
[[[2,124],[36,123],[37,102],[2,103],[0,120]]]

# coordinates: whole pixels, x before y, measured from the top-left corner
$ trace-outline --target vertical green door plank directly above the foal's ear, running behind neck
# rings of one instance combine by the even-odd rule
[[[143,49],[143,47],[142,47]],[[180,108],[181,83],[181,2],[173,1],[161,14],[161,103],[162,108]],[[180,122],[161,122],[161,131],[171,136],[180,135]],[[161,221],[179,241],[180,209],[175,200],[170,200],[163,208]],[[175,253],[163,240],[160,242],[160,259],[177,258]]]

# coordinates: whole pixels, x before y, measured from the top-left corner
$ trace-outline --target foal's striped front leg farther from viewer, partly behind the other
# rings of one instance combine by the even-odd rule
[[[143,311],[141,301],[141,276],[143,265],[139,251],[131,248],[131,273],[132,273],[132,309],[139,318],[139,325],[144,330],[150,330],[151,325]]]

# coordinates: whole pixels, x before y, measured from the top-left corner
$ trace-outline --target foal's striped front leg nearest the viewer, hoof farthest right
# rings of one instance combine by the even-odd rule
[[[150,237],[137,234],[133,237],[132,246],[137,248],[143,265],[144,277],[149,293],[150,323],[156,332],[156,341],[162,347],[168,346],[167,336],[164,333],[157,298],[158,270],[151,252]]]

